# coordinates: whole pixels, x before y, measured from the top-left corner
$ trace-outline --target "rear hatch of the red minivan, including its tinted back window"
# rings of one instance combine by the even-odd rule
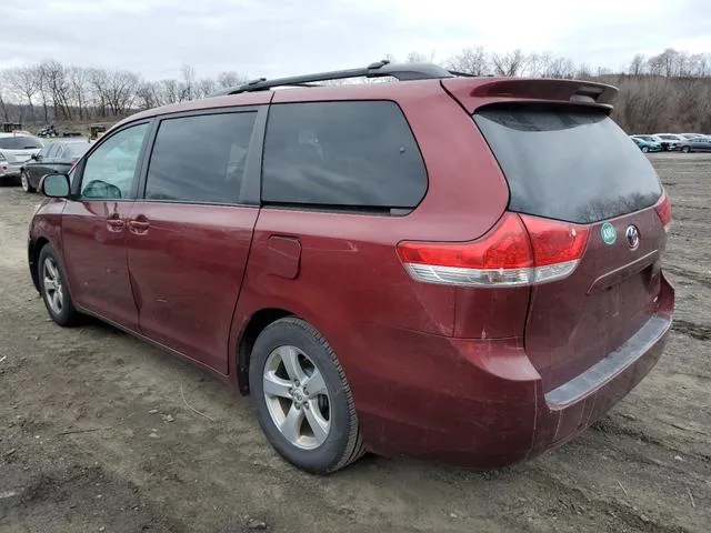
[[[525,351],[544,392],[621,346],[654,313],[665,228],[650,162],[609,109],[499,102],[473,112],[509,183],[509,210],[587,232],[563,279],[533,284]],[[548,223],[548,222],[547,222]]]

